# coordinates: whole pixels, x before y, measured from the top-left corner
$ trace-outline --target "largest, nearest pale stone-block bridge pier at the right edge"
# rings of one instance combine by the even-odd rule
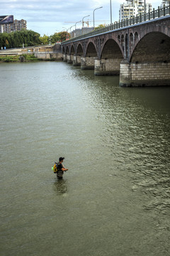
[[[120,63],[120,86],[170,85],[170,63]]]

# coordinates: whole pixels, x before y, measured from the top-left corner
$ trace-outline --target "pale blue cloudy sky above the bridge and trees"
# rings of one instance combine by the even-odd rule
[[[95,14],[95,26],[103,23],[108,24],[111,21],[112,3],[112,21],[118,21],[120,4],[125,0],[0,0],[0,16],[13,15],[14,19],[27,21],[27,28],[47,36],[55,32],[68,29],[74,30],[75,23],[89,21],[89,26],[93,26],[93,12]],[[162,0],[146,0],[157,9]],[[81,23],[77,23],[77,28],[81,28]]]

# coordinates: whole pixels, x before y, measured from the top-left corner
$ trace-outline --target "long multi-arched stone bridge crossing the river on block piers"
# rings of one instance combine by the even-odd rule
[[[170,15],[126,22],[64,41],[63,60],[95,75],[120,75],[120,86],[170,85]]]

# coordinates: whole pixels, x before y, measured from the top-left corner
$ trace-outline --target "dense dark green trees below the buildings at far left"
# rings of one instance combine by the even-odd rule
[[[19,48],[24,46],[37,46],[41,43],[40,34],[23,29],[11,33],[0,33],[0,48]]]

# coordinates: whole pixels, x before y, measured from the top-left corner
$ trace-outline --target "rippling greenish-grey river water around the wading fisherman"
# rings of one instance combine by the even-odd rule
[[[169,255],[170,87],[118,82],[0,63],[2,256]]]

